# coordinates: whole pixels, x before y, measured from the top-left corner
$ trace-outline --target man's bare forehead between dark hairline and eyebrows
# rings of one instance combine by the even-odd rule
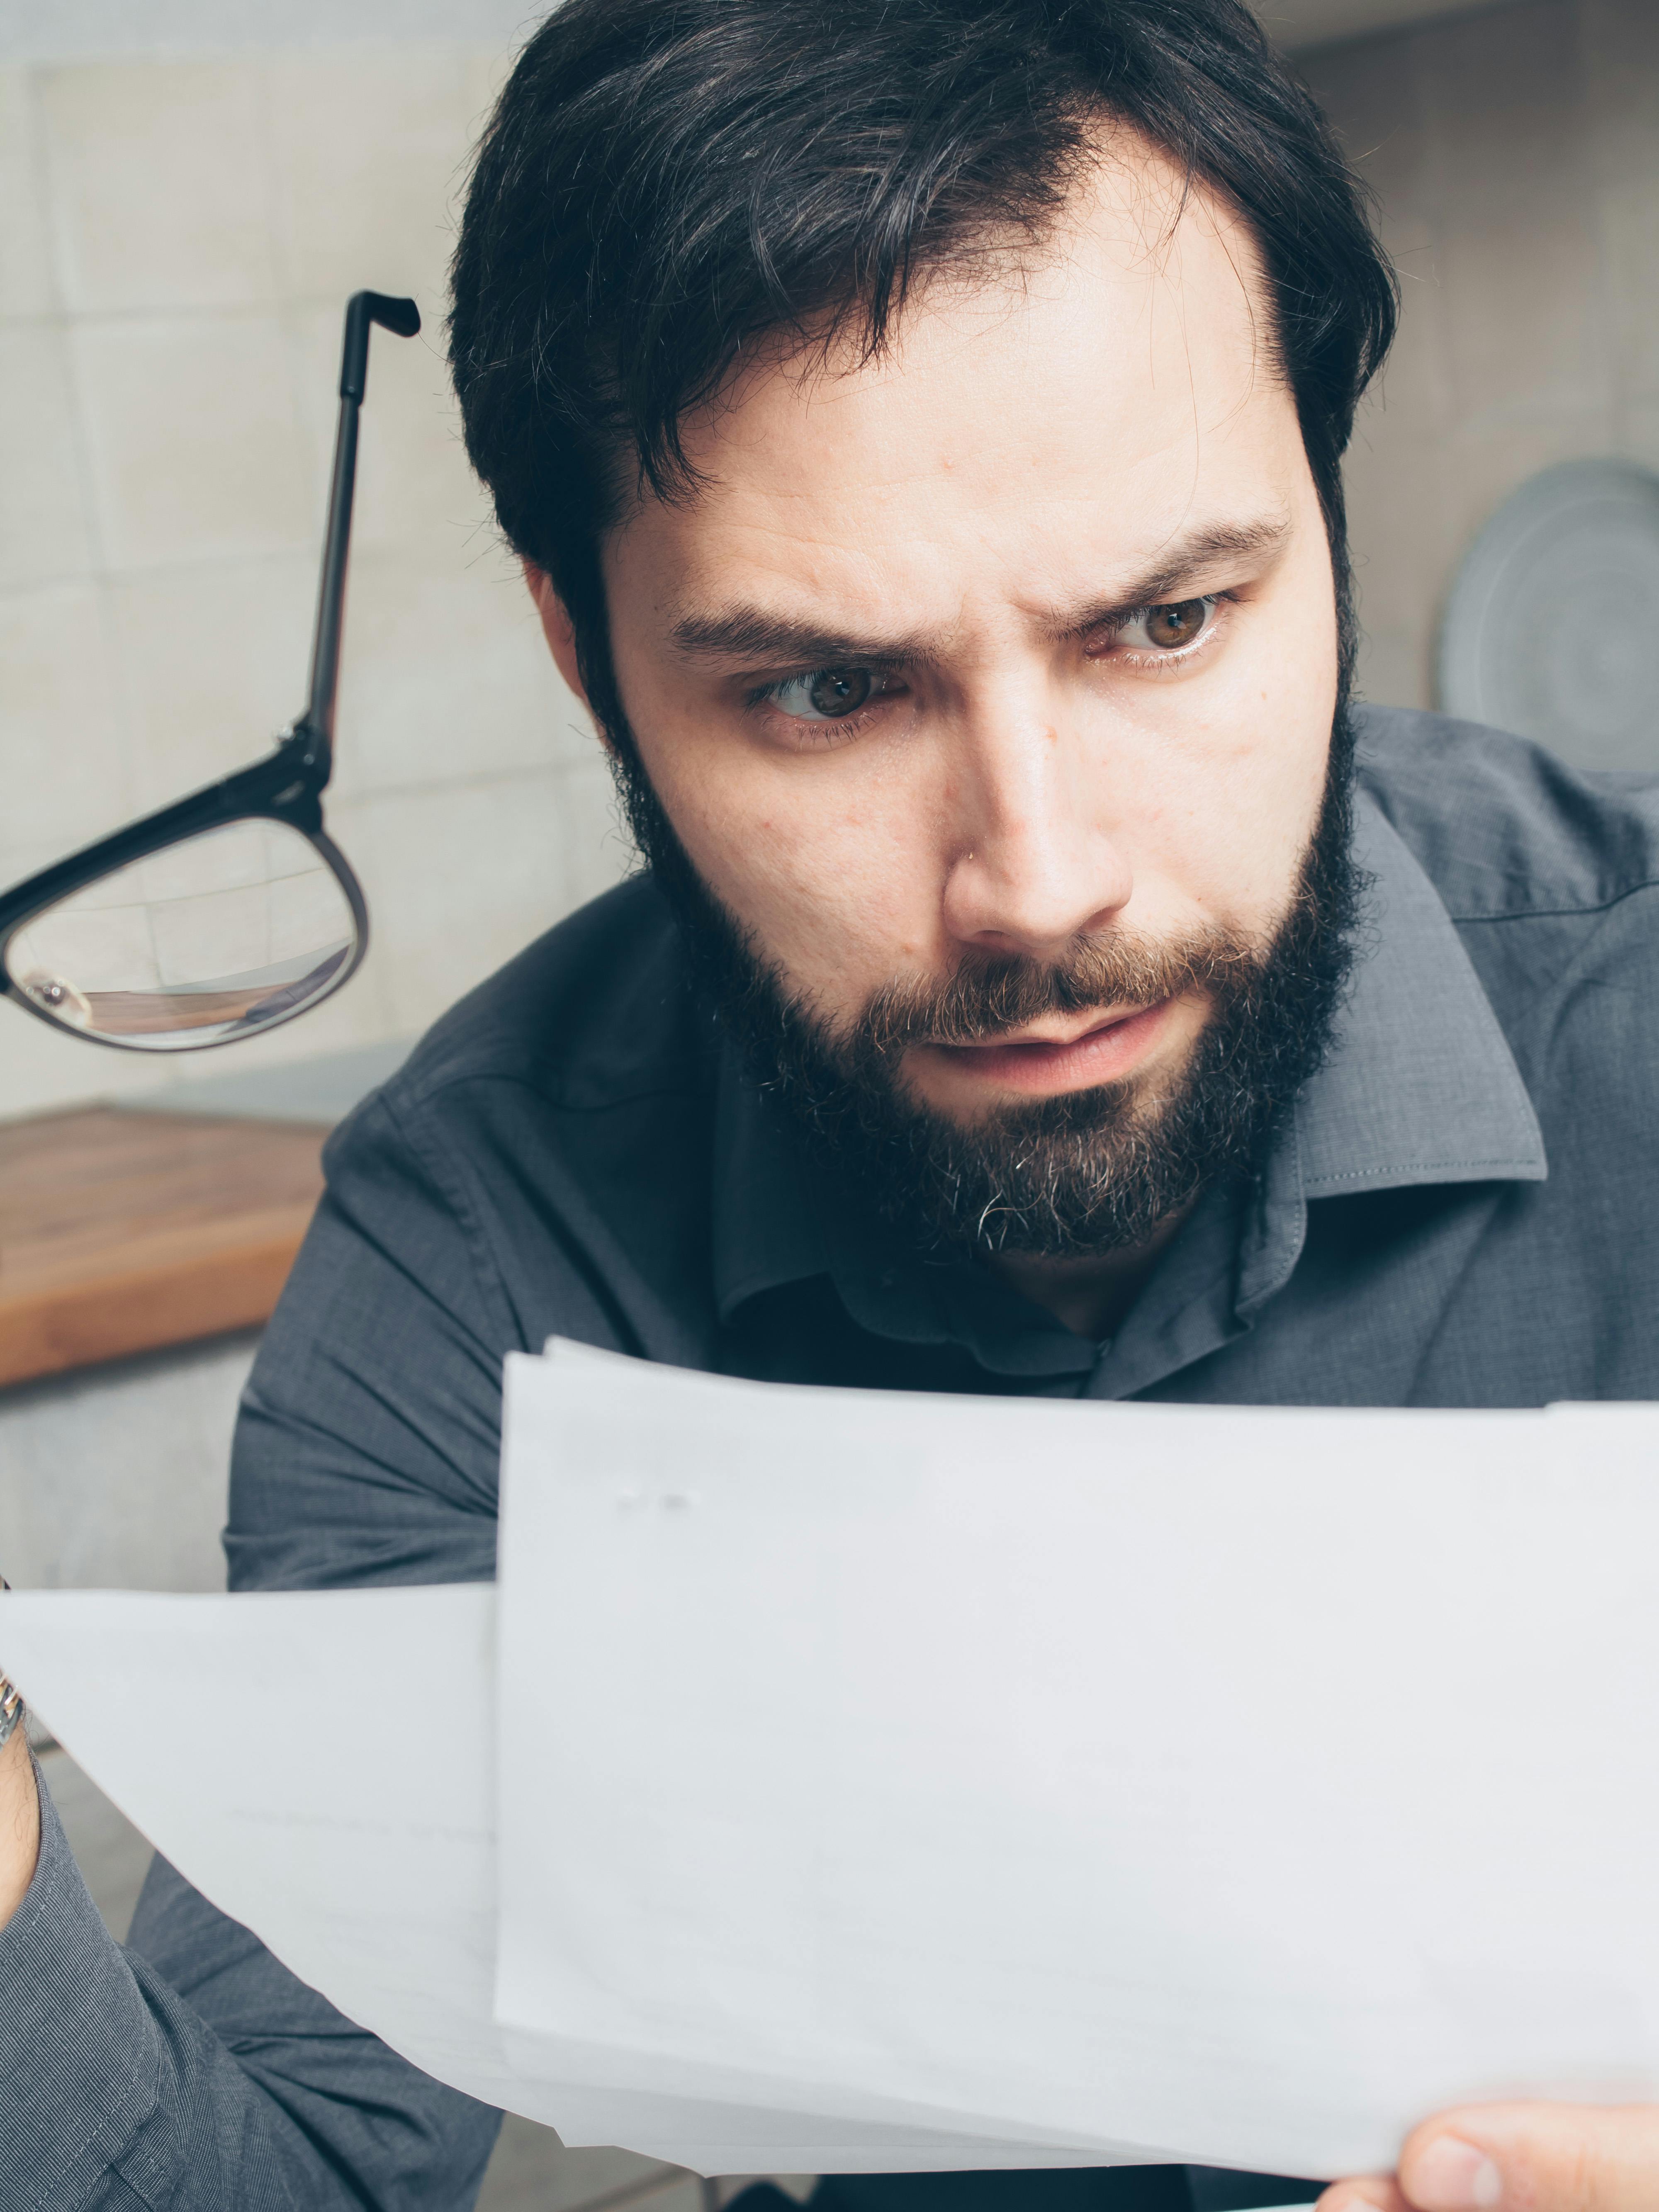
[[[1115,148],[1037,246],[925,283],[876,358],[748,367],[686,425],[697,493],[644,500],[606,564],[675,608],[1064,593],[1285,504],[1305,462],[1270,332],[1245,226]]]

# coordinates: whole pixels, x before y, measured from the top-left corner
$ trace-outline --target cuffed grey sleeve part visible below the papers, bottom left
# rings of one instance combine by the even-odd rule
[[[0,2203],[471,2205],[498,2112],[354,2028],[170,1867],[137,1918],[144,1944],[122,1951],[40,1781],[40,1863],[0,1931]]]

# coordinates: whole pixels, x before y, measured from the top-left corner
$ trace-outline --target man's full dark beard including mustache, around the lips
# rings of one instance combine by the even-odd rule
[[[1146,1245],[1203,1190],[1259,1172],[1332,1040],[1363,876],[1352,856],[1354,732],[1332,726],[1325,794],[1292,898],[1265,938],[1212,927],[1179,942],[1126,929],[1062,960],[964,958],[940,982],[889,982],[834,1026],[701,880],[639,763],[611,730],[617,790],[692,967],[763,1091],[832,1177],[858,1186],[920,1250],[1084,1259]],[[1210,1006],[1186,1064],[993,1108],[962,1124],[905,1084],[914,1044],[978,1044],[1044,1015]]]

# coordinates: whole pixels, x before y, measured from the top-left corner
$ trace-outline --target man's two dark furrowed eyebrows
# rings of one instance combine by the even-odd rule
[[[1219,522],[1177,538],[1157,568],[1113,588],[1086,606],[1053,608],[1042,628],[1051,637],[1075,637],[1141,606],[1170,602],[1183,584],[1221,562],[1267,562],[1287,544],[1292,522],[1272,515],[1259,522]],[[938,657],[936,641],[916,630],[887,635],[823,630],[790,622],[763,606],[737,602],[708,613],[681,615],[668,628],[668,644],[686,659],[737,661],[752,668],[865,668],[918,664]]]

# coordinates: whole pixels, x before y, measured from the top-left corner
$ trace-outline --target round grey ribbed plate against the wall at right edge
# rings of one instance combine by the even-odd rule
[[[1504,500],[1451,586],[1440,703],[1575,768],[1659,770],[1659,476],[1568,460]]]

